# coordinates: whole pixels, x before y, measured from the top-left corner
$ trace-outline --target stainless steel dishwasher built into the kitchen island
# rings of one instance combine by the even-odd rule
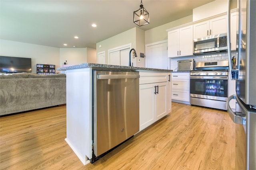
[[[139,131],[140,75],[98,70],[93,74],[92,149],[95,156],[100,156]]]

